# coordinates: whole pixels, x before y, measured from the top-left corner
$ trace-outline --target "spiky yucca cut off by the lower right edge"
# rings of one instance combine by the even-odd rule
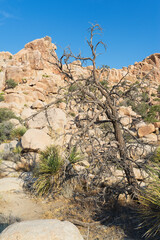
[[[142,223],[140,228],[145,228],[146,239],[160,239],[160,154],[157,150],[153,167],[148,167],[150,182],[140,195],[140,214]]]

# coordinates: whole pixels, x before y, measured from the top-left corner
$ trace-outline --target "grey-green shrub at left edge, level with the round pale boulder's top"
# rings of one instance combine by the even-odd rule
[[[11,139],[13,124],[10,122],[0,123],[0,143]]]

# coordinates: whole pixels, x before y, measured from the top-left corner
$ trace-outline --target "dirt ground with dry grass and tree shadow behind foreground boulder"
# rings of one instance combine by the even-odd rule
[[[1,230],[15,221],[53,218],[73,222],[84,240],[142,239],[134,231],[134,221],[127,211],[123,208],[113,213],[102,209],[96,213],[91,206],[75,199],[36,198],[25,192],[5,192],[0,196]]]

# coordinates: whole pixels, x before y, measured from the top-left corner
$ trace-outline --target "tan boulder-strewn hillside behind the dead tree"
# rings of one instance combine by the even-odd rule
[[[75,101],[66,103],[63,94],[60,96],[58,92],[60,88],[66,86],[66,81],[57,68],[57,62],[56,46],[51,42],[50,37],[26,44],[24,49],[15,55],[9,52],[0,53],[0,108],[13,110],[17,117],[24,120],[23,123],[28,130],[22,137],[21,144],[25,151],[43,150],[52,143],[63,146],[71,137],[68,133],[73,134],[77,128],[73,121],[79,111]],[[69,65],[73,77],[90,76],[92,66],[82,67],[80,61]],[[101,69],[97,69],[97,73],[100,71]],[[142,62],[135,63],[128,68],[117,70],[106,67],[100,81],[108,79],[108,83],[114,85],[124,76],[130,84],[141,79],[146,91],[146,93],[143,92],[143,98],[146,94],[149,98],[146,105],[156,103],[157,106],[159,104],[157,100],[160,92],[158,88],[160,85],[159,53],[152,54]],[[15,82],[17,85],[8,87],[7,81]],[[138,101],[141,100],[141,98],[138,99]],[[141,121],[139,125],[136,125],[135,119],[141,117],[139,115],[142,113],[141,109],[138,113],[135,112],[134,100],[131,106],[123,106],[124,99],[122,98],[121,101],[122,104],[118,110],[121,124],[133,136],[144,139],[145,142],[157,144],[160,141],[159,108],[155,113],[156,123],[148,124]],[[103,114],[99,118],[104,119]],[[22,126],[17,119],[11,119],[10,122],[16,128]],[[18,141],[8,145],[3,143],[0,149],[9,149],[10,146],[14,148],[16,144]]]

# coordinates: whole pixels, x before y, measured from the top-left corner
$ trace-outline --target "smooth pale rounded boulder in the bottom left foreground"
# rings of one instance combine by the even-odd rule
[[[56,219],[24,221],[7,227],[0,240],[83,240],[79,230],[68,221]]]

